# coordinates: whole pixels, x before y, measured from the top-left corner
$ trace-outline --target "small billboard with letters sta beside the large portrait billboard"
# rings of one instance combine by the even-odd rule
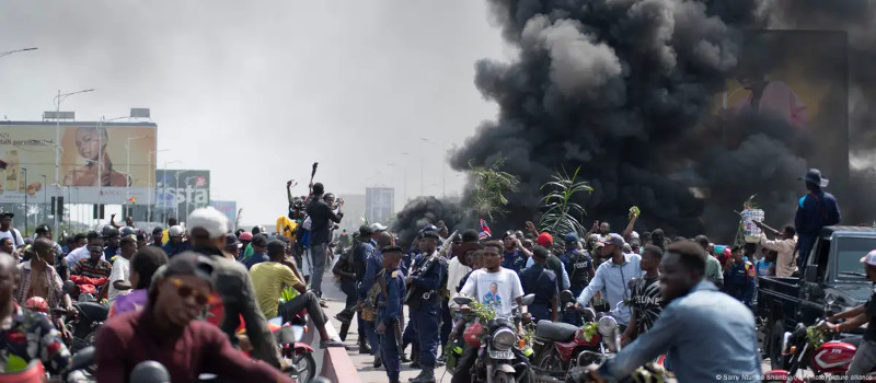
[[[157,170],[155,209],[185,220],[192,210],[210,206],[210,171]]]

